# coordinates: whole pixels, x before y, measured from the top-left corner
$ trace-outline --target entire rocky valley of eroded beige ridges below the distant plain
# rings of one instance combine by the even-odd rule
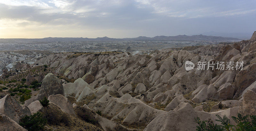
[[[232,116],[256,115],[256,32],[134,51],[1,51],[0,130],[196,130],[196,118],[236,125]]]

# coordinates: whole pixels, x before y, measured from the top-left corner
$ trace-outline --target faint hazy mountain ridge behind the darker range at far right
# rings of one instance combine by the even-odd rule
[[[253,33],[253,32],[252,32]],[[202,35],[211,35],[211,36],[222,36],[222,37],[233,37],[233,38],[239,38],[239,39],[250,39],[252,36],[252,33],[222,33],[222,32],[204,32],[200,33]],[[200,34],[193,34],[193,35],[200,35]]]

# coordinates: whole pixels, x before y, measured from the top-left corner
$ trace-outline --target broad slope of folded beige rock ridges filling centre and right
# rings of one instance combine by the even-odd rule
[[[138,127],[145,127],[149,123],[145,130],[189,130],[195,128],[195,123],[191,122],[191,128],[187,128],[183,120],[192,120],[196,116],[215,119],[216,113],[229,117],[236,115],[237,106],[241,103],[234,100],[243,100],[248,90],[255,91],[254,37],[255,33],[252,39],[233,44],[185,47],[174,51],[155,50],[142,55],[128,52],[84,53],[80,56],[72,53],[52,54],[34,65],[47,64],[55,75],[76,79],[74,83],[64,85],[62,95],[69,97],[69,100],[75,99],[76,104],[88,105],[92,111],[102,111],[111,120]],[[185,70],[188,60],[195,63],[195,68],[190,71]],[[206,70],[207,66],[205,70],[197,70],[199,61],[243,61],[244,66],[243,70]],[[229,99],[234,100],[227,102]],[[211,104],[212,101],[223,101],[228,109],[215,109],[214,106],[210,107],[211,113],[202,112],[204,102]],[[182,102],[200,107],[194,110],[190,104],[180,105]],[[159,105],[161,108],[157,107]],[[168,112],[156,108],[165,108]],[[215,110],[217,112],[213,112]],[[164,124],[164,120],[175,121],[175,118],[183,117],[180,113],[185,111],[191,114],[177,121],[180,122],[177,125]],[[162,123],[157,123],[160,119]]]

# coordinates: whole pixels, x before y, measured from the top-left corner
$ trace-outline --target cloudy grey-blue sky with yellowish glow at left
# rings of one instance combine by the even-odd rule
[[[0,38],[253,33],[255,0],[0,0]]]

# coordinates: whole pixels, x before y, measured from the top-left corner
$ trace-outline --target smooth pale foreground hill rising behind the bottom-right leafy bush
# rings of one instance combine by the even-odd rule
[[[195,111],[195,109],[189,103],[180,103],[174,110],[166,112],[157,116],[153,119],[144,131],[168,131],[168,130],[196,130],[194,118],[200,117],[202,120],[211,119],[213,123],[218,123],[214,121],[217,119],[215,114],[220,116],[227,115],[229,119],[231,116],[236,116],[239,107],[233,107],[226,110],[218,112],[202,112]],[[234,121],[231,121],[234,124]],[[220,124],[220,123],[218,123]]]

